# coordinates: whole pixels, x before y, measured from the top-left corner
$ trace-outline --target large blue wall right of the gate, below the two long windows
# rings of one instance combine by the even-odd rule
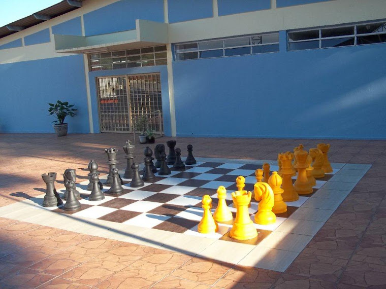
[[[386,44],[174,62],[177,135],[384,139],[384,63]]]

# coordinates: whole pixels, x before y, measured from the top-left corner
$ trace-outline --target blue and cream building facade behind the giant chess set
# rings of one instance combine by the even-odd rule
[[[0,38],[0,132],[386,138],[384,0],[64,3]]]

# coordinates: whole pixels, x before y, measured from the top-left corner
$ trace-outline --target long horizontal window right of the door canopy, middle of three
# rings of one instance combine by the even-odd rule
[[[278,52],[279,33],[182,43],[174,50],[176,61]]]

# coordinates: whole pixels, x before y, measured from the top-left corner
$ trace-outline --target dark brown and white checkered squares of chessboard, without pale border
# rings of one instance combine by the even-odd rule
[[[85,190],[85,183],[87,182],[83,182],[84,185],[77,185],[82,197],[79,200],[82,204],[80,209],[65,211],[62,208],[56,208],[52,211],[83,218],[256,245],[302,206],[312,194],[300,196],[299,200],[295,202],[287,202],[287,212],[277,214],[275,224],[254,224],[259,236],[252,240],[239,241],[230,238],[229,231],[232,222],[220,223],[219,231],[214,234],[200,234],[197,232],[197,226],[203,214],[202,196],[210,195],[212,197],[212,212],[214,212],[218,202],[216,190],[219,186],[226,187],[227,204],[235,214],[236,209],[233,207],[231,192],[237,190],[236,177],[244,176],[244,189],[253,191],[253,185],[256,182],[254,171],[257,168],[261,168],[261,165],[198,162],[195,165],[186,166],[184,170],[172,169],[172,174],[167,176],[159,176],[156,173],[154,182],[145,183],[141,188],[131,188],[130,179],[123,178],[125,185],[122,194],[117,196],[105,193],[105,199],[98,202],[88,200],[90,192]],[[273,170],[277,170],[277,166],[271,165],[271,171]],[[337,171],[334,169],[334,172],[326,174],[325,178],[318,179],[313,194],[327,183]],[[105,179],[106,176],[101,177],[102,182],[105,182]],[[106,192],[107,190],[108,187],[105,186],[103,191]],[[64,192],[64,189],[59,190],[61,194]],[[249,208],[252,220],[257,210],[258,203],[252,199]]]

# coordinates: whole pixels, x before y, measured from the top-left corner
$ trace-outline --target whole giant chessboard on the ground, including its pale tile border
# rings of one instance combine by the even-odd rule
[[[97,202],[88,200],[90,192],[85,190],[88,184],[86,180],[77,184],[81,207],[75,211],[65,211],[62,207],[43,208],[41,203],[44,195],[23,202],[33,203],[35,213],[39,211],[36,208],[39,208],[45,211],[45,215],[51,216],[51,220],[55,220],[56,216],[70,217],[61,220],[69,222],[68,230],[73,228],[79,233],[98,233],[121,240],[126,237],[124,240],[129,242],[197,254],[223,262],[284,271],[370,168],[370,165],[332,164],[333,172],[316,180],[312,194],[300,196],[295,202],[286,202],[287,211],[276,214],[275,224],[254,224],[258,237],[240,241],[229,236],[232,221],[219,223],[216,233],[198,232],[197,227],[203,215],[202,197],[211,196],[214,212],[218,203],[216,190],[224,186],[227,189],[227,204],[235,216],[236,208],[233,206],[231,192],[237,190],[236,177],[244,176],[244,190],[253,192],[256,182],[254,172],[267,161],[197,160],[197,164],[186,166],[184,170],[172,169],[172,173],[167,176],[156,173],[155,180],[145,183],[141,188],[131,188],[130,179],[123,178],[122,194],[108,194],[106,191],[109,188],[105,186],[105,199]],[[268,162],[271,171],[278,169],[276,161]],[[123,175],[123,171],[120,172]],[[106,177],[101,176],[102,183]],[[58,184],[56,187],[59,187]],[[61,188],[58,192],[62,195],[65,189]],[[5,210],[5,213],[2,209],[0,216],[14,216],[17,219],[17,213],[12,212],[12,209]],[[253,221],[258,210],[258,202],[253,198],[248,210]],[[43,219],[39,220],[45,223]],[[34,223],[34,218],[27,220]],[[26,221],[25,217],[22,221]],[[91,227],[87,231],[85,226],[82,231],[82,226],[78,228],[72,225],[75,221]],[[51,221],[48,226],[57,227],[54,223]],[[60,224],[60,228],[66,229],[66,225],[62,222]]]

